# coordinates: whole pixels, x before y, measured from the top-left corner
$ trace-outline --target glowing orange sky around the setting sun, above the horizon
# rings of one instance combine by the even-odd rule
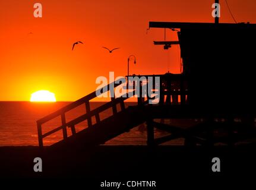
[[[43,18],[34,18],[33,5],[43,5]],[[73,101],[94,91],[99,76],[127,74],[127,57],[137,65],[130,74],[179,72],[178,48],[163,50],[163,29],[148,21],[213,22],[214,0],[8,0],[0,1],[0,100],[28,101],[37,90],[55,93],[58,101]],[[233,23],[220,0],[221,23]],[[229,0],[238,22],[256,23],[255,0]],[[29,34],[32,32],[33,34]],[[167,30],[166,40],[175,39]],[[176,37],[176,36],[175,36]],[[75,47],[77,40],[84,45]],[[108,53],[102,46],[121,47]]]

